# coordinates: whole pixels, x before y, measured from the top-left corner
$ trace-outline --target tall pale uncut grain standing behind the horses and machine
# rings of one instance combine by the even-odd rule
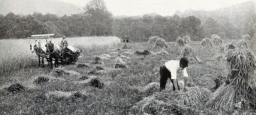
[[[46,44],[46,39],[37,39]],[[62,38],[51,39],[54,43],[60,43]],[[69,45],[83,49],[110,48],[120,43],[118,37],[72,37],[66,38]],[[31,53],[30,44],[34,39],[3,39],[0,40],[0,74],[38,66],[35,53]],[[46,61],[45,61],[46,62]]]

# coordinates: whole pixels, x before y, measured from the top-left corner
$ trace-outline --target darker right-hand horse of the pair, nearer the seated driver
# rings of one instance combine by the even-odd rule
[[[55,59],[54,61],[54,67],[56,67],[56,65],[58,66],[58,63],[59,63],[59,57],[62,53],[62,50],[63,50],[63,46],[61,44],[54,44],[51,42],[52,40],[50,41],[47,41],[46,39],[46,54],[49,54],[49,60],[50,60],[50,66],[51,68],[52,67],[52,58]]]

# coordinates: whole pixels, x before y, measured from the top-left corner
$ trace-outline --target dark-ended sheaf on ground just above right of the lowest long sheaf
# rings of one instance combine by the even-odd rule
[[[98,76],[90,76],[85,81],[78,82],[78,84],[88,84],[88,85],[96,87],[96,88],[104,87],[104,83],[100,81],[100,78]]]

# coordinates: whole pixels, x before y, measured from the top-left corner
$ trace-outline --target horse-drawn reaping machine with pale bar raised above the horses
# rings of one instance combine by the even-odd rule
[[[31,37],[27,37],[27,38],[33,38],[33,39],[48,38],[49,39],[50,35],[54,35],[54,34],[31,35]],[[35,53],[39,57],[46,58],[47,60],[50,59],[49,57],[50,55],[46,54],[45,51],[44,53],[42,52],[41,53],[35,52]],[[76,62],[80,57],[82,57],[82,50],[68,45],[63,49],[62,53],[59,55],[58,61],[61,62],[62,64],[71,64],[72,62]],[[54,58],[52,58],[52,60],[56,61]]]

